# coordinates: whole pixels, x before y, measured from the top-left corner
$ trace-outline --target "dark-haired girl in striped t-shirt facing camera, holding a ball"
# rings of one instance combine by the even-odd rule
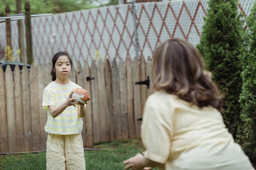
[[[52,58],[52,82],[44,90],[42,107],[47,110],[47,169],[86,169],[81,136],[86,105],[76,107],[71,95],[79,85],[69,80],[72,60],[67,52]]]

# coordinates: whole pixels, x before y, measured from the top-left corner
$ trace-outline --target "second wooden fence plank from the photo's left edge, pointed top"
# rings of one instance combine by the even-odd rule
[[[16,152],[14,82],[10,65],[5,70],[9,152]]]

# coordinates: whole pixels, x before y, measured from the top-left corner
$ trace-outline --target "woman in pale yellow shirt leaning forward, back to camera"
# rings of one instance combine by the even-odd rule
[[[196,48],[172,38],[153,56],[153,88],[141,125],[146,148],[125,169],[253,169],[221,116],[222,98]]]

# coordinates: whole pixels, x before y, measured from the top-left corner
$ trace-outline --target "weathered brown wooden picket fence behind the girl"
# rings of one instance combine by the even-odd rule
[[[140,136],[137,119],[142,117],[151,86],[135,83],[152,78],[151,62],[150,58],[126,58],[119,63],[106,59],[73,68],[70,79],[91,96],[83,118],[84,147]],[[41,103],[44,88],[51,82],[51,67],[32,65],[28,70],[24,66],[20,71],[16,66],[12,71],[8,65],[4,72],[0,66],[0,153],[46,150],[47,114]]]

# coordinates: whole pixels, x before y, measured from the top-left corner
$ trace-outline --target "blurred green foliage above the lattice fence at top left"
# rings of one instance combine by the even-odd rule
[[[20,0],[21,1],[21,0]],[[25,13],[25,2],[22,1],[22,12]],[[70,11],[78,11],[84,9],[96,8],[87,3],[87,0],[73,1],[73,0],[28,0],[30,4],[31,14],[43,13],[62,13]],[[10,6],[11,14],[16,13],[16,1],[3,0],[0,1],[0,16],[5,16],[5,7]]]

